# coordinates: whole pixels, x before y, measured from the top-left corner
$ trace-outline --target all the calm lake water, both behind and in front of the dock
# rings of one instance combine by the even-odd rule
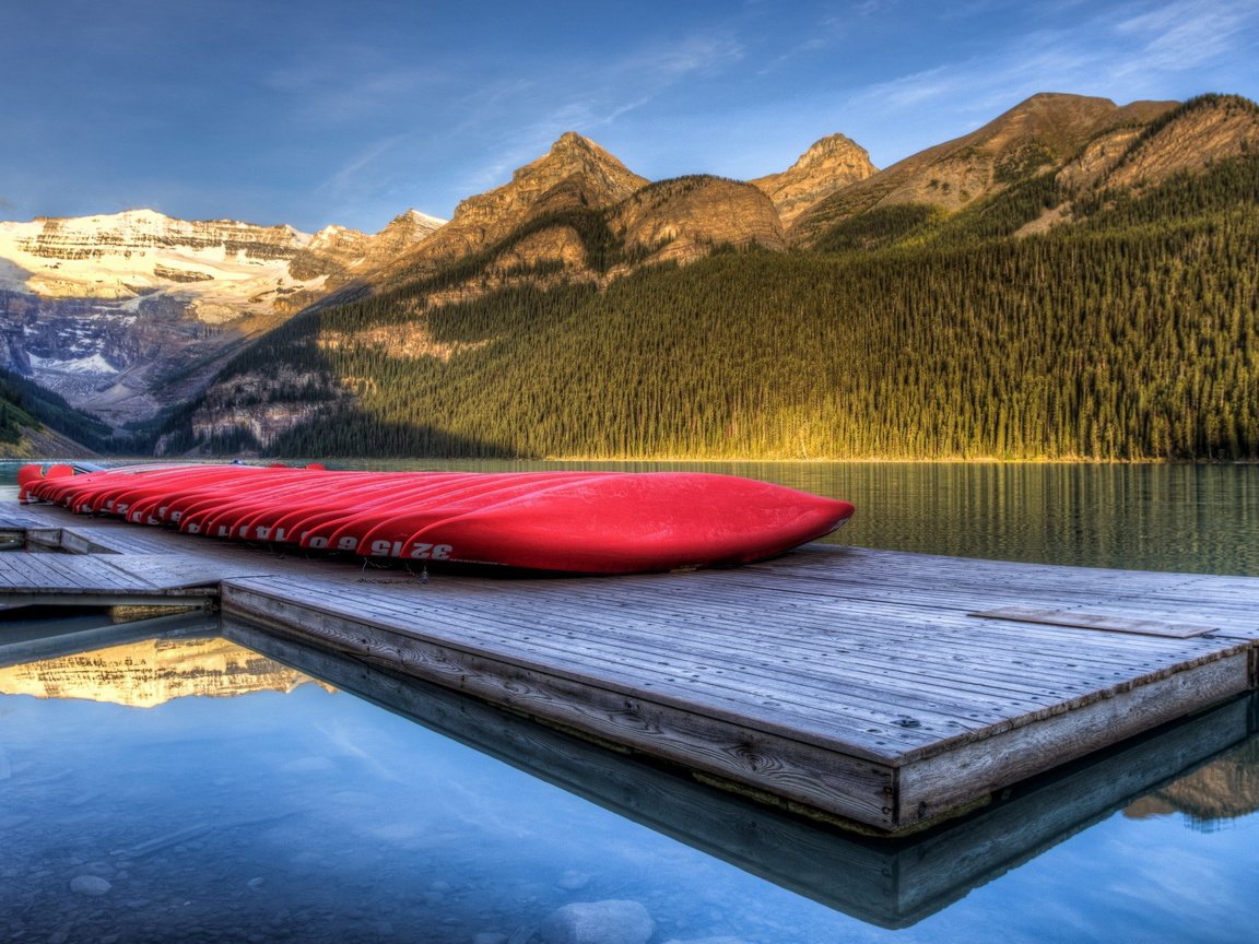
[[[1259,574],[1256,468],[714,468],[851,498],[852,544]],[[648,915],[650,944],[1253,941],[1259,926],[1254,702],[886,847],[300,653],[272,652],[334,685],[222,638],[117,632],[135,638],[0,658],[0,940],[538,944],[574,902],[604,902],[622,933],[616,915]],[[487,750],[543,769],[417,710],[472,719],[497,735]],[[592,940],[622,939],[643,940]]]

